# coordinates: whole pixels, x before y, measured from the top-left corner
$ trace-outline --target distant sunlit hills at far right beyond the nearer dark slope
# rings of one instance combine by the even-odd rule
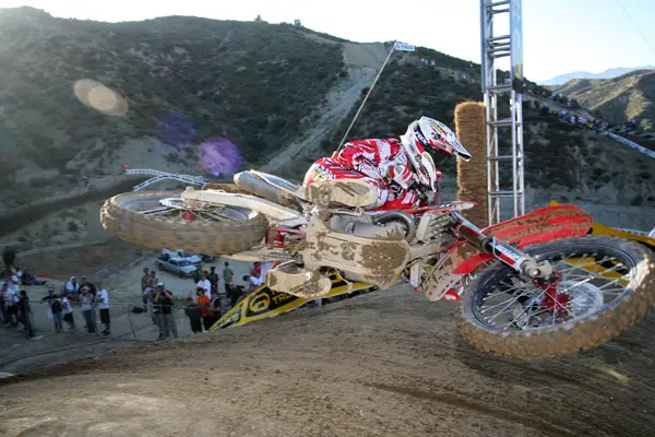
[[[633,71],[606,80],[575,79],[552,90],[600,111],[611,122],[623,123],[638,117],[644,120],[642,128],[654,127],[655,70]]]

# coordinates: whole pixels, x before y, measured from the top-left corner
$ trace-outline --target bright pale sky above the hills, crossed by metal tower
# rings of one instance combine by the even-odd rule
[[[389,0],[388,0],[389,1]],[[293,23],[342,38],[398,40],[480,60],[479,0],[0,0],[55,16],[107,22],[167,15]],[[507,15],[507,14],[503,14]],[[544,81],[573,71],[655,64],[655,0],[523,0],[524,73]],[[497,35],[509,33],[497,22]],[[505,31],[505,32],[503,32]],[[509,60],[499,62],[509,69]]]

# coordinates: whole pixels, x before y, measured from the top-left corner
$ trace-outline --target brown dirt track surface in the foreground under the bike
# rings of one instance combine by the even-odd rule
[[[519,362],[463,344],[454,309],[372,293],[45,370],[0,388],[0,435],[653,435],[653,317]]]

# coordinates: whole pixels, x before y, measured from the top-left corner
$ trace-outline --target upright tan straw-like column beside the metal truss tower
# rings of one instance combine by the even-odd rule
[[[457,160],[457,199],[477,202],[464,211],[467,220],[479,227],[489,225],[487,198],[487,132],[485,104],[463,102],[455,107],[455,128],[460,142],[472,154],[468,163]]]

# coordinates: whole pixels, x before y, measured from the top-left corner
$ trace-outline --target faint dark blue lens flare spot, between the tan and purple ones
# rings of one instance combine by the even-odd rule
[[[169,111],[155,128],[157,149],[163,154],[186,154],[195,144],[196,127],[191,117],[180,111]]]

